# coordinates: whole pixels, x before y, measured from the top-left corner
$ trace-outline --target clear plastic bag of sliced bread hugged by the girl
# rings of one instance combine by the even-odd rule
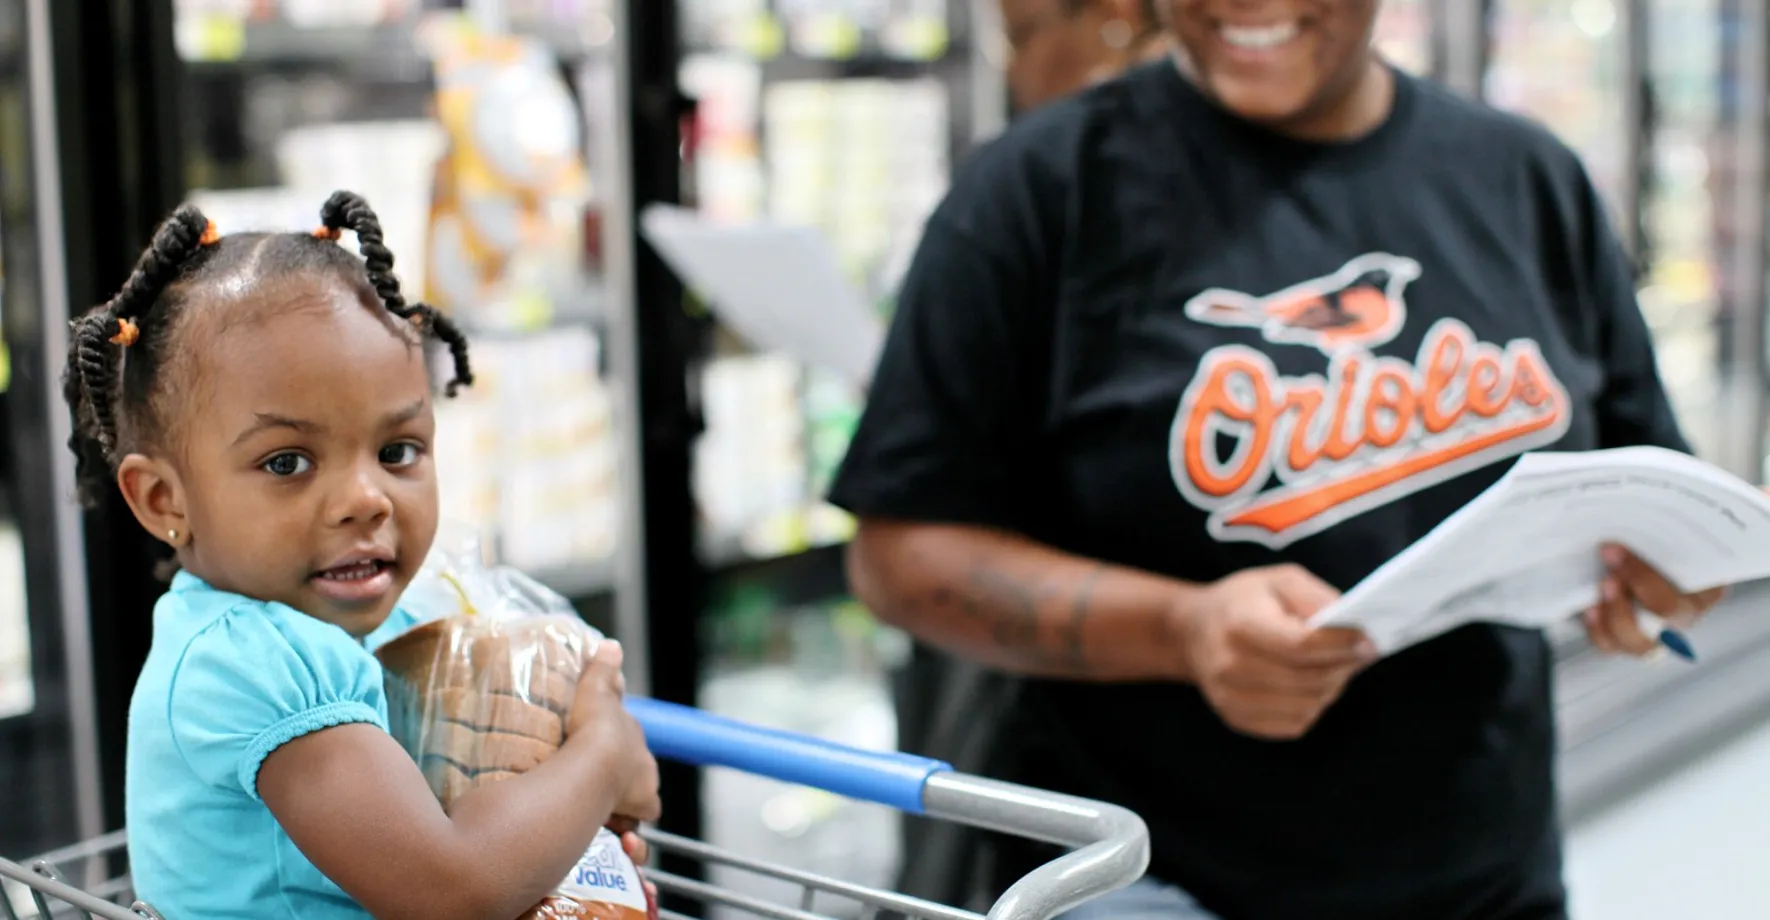
[[[421,623],[375,651],[388,727],[448,809],[559,750],[602,633],[535,579],[485,563],[474,536],[437,540],[402,605]],[[602,830],[552,897],[519,920],[655,920],[620,837]]]

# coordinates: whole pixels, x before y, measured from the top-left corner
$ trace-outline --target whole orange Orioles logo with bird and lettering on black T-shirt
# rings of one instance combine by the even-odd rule
[[[1420,264],[1388,253],[1266,297],[1212,288],[1186,315],[1329,357],[1287,377],[1246,345],[1205,352],[1181,395],[1168,465],[1216,540],[1281,548],[1496,460],[1554,444],[1570,400],[1531,340],[1480,341],[1455,318],[1412,361],[1377,356],[1407,322]]]

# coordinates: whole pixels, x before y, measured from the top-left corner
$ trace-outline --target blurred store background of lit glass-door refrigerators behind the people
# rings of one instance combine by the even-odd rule
[[[1581,150],[1690,437],[1765,481],[1754,4],[1389,0],[1379,42]],[[820,501],[862,393],[722,324],[637,214],[816,226],[885,317],[952,165],[1007,120],[1002,60],[993,0],[0,0],[0,855],[120,821],[156,587],[131,520],[60,501],[53,372],[65,317],[181,200],[227,228],[306,228],[333,188],[365,193],[400,274],[474,336],[481,384],[439,418],[444,511],[641,649],[653,694],[896,745],[906,642],[844,594],[851,522]],[[1682,794],[1682,764],[1751,775],[1710,752],[1770,711],[1754,598],[1703,626],[1697,667],[1561,637],[1575,883],[1655,878],[1604,853],[1634,853],[1614,844],[1637,833],[1628,809]],[[671,830],[890,883],[890,814],[724,773],[699,796],[694,773],[666,782]]]

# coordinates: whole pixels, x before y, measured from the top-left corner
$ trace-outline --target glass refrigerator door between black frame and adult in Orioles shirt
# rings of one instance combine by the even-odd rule
[[[950,165],[991,115],[974,83],[979,5],[680,0],[680,81],[697,103],[690,203],[713,221],[814,228],[834,271],[883,324]],[[892,748],[890,672],[904,648],[844,598],[834,545],[851,522],[821,501],[864,395],[804,356],[743,338],[719,310],[710,304],[697,387],[706,430],[694,460],[713,570],[701,706]],[[706,773],[703,800],[715,844],[890,885],[897,821],[883,809],[729,771]],[[791,893],[743,876],[719,881]]]

